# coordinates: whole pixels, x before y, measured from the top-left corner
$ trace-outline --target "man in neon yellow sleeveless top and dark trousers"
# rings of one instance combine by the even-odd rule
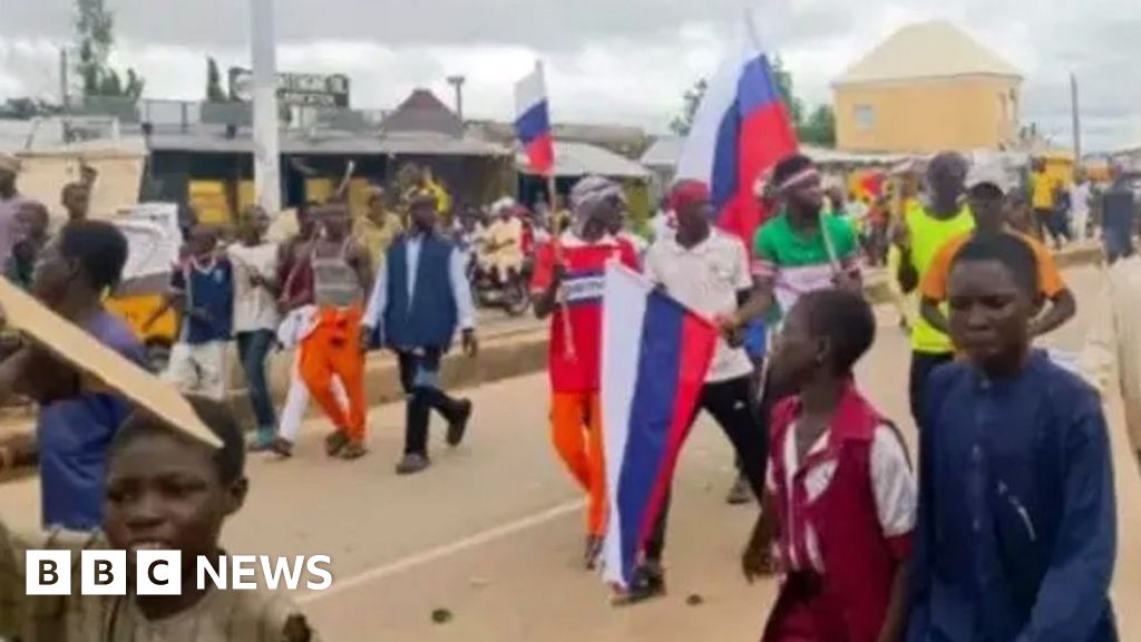
[[[974,230],[971,208],[963,200],[968,162],[955,152],[936,154],[928,163],[925,204],[916,203],[904,212],[904,224],[893,242],[899,251],[896,274],[905,294],[914,291],[934,262],[939,249],[955,236]],[[908,382],[912,417],[920,420],[920,408],[928,375],[954,358],[950,337],[916,316],[912,328],[912,367]]]

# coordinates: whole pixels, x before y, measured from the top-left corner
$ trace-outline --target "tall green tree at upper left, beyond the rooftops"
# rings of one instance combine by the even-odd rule
[[[133,69],[128,69],[124,82],[123,77],[111,67],[114,31],[115,18],[104,0],[75,0],[76,71],[83,81],[83,95],[138,101],[145,86],[143,78]]]

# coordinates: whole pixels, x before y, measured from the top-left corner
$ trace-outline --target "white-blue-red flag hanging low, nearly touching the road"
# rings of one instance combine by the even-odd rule
[[[610,263],[602,305],[602,447],[610,507],[602,562],[628,588],[689,433],[718,330]]]

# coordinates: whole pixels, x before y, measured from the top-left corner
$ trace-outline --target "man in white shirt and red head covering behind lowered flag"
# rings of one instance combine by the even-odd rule
[[[753,288],[745,244],[710,224],[710,192],[704,183],[678,183],[670,200],[677,214],[675,233],[658,239],[649,248],[646,275],[665,288],[671,297],[710,320],[735,313]],[[748,484],[760,497],[764,489],[768,439],[751,411],[752,375],[753,362],[744,348],[721,338],[705,378],[699,407],[713,416],[733,442]],[[664,591],[661,560],[667,512],[666,505],[646,544],[646,562],[631,586],[631,601],[653,597]]]

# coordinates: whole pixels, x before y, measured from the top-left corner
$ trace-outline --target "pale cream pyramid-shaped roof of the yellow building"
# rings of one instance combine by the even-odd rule
[[[848,67],[834,85],[964,75],[1022,77],[1010,63],[954,24],[934,21],[900,29]]]

